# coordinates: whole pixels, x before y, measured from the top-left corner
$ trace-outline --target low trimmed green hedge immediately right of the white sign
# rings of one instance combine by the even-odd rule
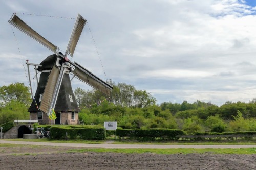
[[[174,139],[177,135],[185,135],[185,131],[178,129],[117,129],[116,135],[130,138],[168,138]]]

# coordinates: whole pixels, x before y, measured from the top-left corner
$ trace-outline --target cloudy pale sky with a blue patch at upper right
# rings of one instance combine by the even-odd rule
[[[84,27],[71,61],[103,80],[146,90],[157,103],[222,105],[256,98],[254,0],[0,0],[0,86],[29,86],[25,64],[53,54],[8,23],[13,13],[65,51],[78,13]],[[30,67],[32,91],[35,71]],[[73,90],[91,87],[72,80]]]

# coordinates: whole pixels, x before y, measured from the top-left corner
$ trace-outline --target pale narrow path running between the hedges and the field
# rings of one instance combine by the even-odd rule
[[[256,148],[256,145],[177,145],[177,144],[84,144],[84,143],[51,143],[51,142],[30,142],[30,141],[11,141],[0,140],[0,143],[45,145],[55,147],[85,147],[85,148]]]

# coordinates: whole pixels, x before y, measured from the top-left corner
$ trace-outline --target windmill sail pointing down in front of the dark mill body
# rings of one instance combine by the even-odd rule
[[[42,96],[40,107],[39,107],[39,110],[45,113],[48,113],[49,111],[51,111],[51,101],[53,98],[53,92],[58,80],[58,76],[59,76],[59,70],[55,66],[53,66],[51,74],[49,76],[49,79],[45,87],[44,95]]]

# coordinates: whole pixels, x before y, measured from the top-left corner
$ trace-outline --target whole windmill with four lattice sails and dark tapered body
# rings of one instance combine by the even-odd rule
[[[68,55],[73,57],[75,47],[82,33],[83,27],[87,22],[87,20],[80,14],[78,14],[76,19],[65,54],[59,53],[59,48],[56,45],[34,31],[15,13],[8,22],[37,42],[49,48],[49,50],[54,53],[44,59],[40,64],[32,64],[27,61],[27,64],[34,65],[35,67],[37,66],[37,71],[41,72],[33,102],[28,110],[31,114],[37,114],[36,119],[38,118],[38,112],[41,111],[41,114],[45,113],[49,116],[52,109],[54,109],[55,112],[67,113],[66,115],[63,114],[61,116],[62,121],[58,120],[59,123],[65,123],[63,121],[63,117],[66,117],[67,120],[69,117],[72,117],[71,120],[78,120],[78,116],[76,116],[76,119],[74,119],[74,117],[75,113],[78,114],[80,110],[75,101],[69,75],[73,75],[77,79],[87,83],[105,95],[110,95],[110,92],[113,89],[111,85],[101,80],[78,63],[71,62],[67,57]],[[42,120],[44,120],[44,123],[49,122],[48,117],[42,118]]]

